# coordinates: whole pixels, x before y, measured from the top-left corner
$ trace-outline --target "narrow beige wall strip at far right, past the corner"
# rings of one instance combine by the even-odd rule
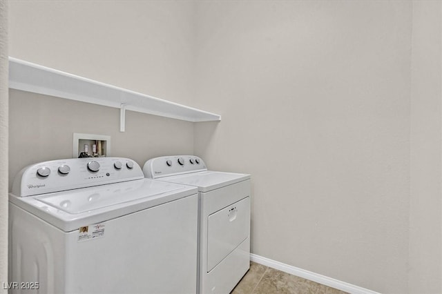
[[[410,293],[442,293],[441,4],[413,3]]]

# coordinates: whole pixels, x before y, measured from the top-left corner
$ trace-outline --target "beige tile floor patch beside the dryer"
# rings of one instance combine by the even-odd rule
[[[345,294],[346,292],[251,262],[249,271],[233,288],[231,294],[251,293]]]

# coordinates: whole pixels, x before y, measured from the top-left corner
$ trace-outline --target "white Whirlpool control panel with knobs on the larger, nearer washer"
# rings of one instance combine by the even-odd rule
[[[23,168],[12,194],[24,197],[143,179],[140,166],[123,157],[86,157],[44,161]]]

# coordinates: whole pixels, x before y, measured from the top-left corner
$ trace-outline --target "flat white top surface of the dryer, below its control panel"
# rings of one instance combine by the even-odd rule
[[[212,170],[206,170],[198,173],[190,173],[186,175],[176,175],[171,177],[162,177],[161,181],[184,184],[190,186],[198,186],[201,192],[207,192],[242,182],[250,179],[250,175],[242,173],[224,173]]]

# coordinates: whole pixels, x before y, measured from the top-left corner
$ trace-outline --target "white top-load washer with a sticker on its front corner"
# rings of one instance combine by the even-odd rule
[[[28,166],[9,211],[12,293],[197,291],[198,189],[145,179],[131,159]]]

